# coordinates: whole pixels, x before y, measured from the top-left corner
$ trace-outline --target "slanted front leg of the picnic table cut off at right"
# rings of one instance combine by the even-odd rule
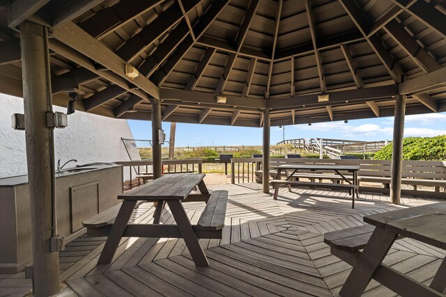
[[[339,296],[360,296],[364,292],[372,275],[383,262],[395,239],[397,239],[397,235],[380,227],[375,228],[360,259],[348,275]]]

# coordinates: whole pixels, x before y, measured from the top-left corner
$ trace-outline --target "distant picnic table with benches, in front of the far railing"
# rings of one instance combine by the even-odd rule
[[[352,208],[355,208],[355,193],[358,191],[358,178],[357,171],[360,170],[359,165],[330,165],[330,164],[289,164],[289,165],[279,165],[276,166],[277,177],[271,181],[272,186],[275,188],[274,199],[277,199],[279,193],[279,187],[287,185],[289,191],[291,192],[291,186],[309,186],[309,187],[321,187],[321,188],[341,188],[348,189],[352,195]],[[291,175],[288,174],[288,170],[291,170]],[[295,175],[299,171],[310,171],[310,172],[334,172],[335,175],[339,176],[341,180],[345,181],[347,184],[329,184],[323,182],[300,182],[291,180],[293,177],[302,177],[302,175]],[[285,172],[286,179],[282,180],[282,172]],[[345,172],[351,174],[351,178],[345,175]],[[325,175],[328,179],[332,178]],[[312,173],[303,175],[303,177],[312,178]],[[319,179],[322,179],[324,175],[317,175]]]

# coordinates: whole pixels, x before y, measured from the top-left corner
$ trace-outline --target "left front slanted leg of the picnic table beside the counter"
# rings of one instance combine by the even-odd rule
[[[105,246],[100,253],[98,264],[109,264],[112,262],[116,248],[118,248],[119,241],[123,238],[125,228],[127,227],[130,216],[138,200],[124,200],[119,209],[118,216],[114,221],[112,230],[110,230],[109,237],[105,242]]]

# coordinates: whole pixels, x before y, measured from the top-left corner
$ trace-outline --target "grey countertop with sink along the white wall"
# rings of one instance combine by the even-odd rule
[[[98,170],[104,170],[107,168],[118,167],[114,163],[88,163],[84,165],[77,165],[71,168],[64,168],[61,172],[56,173],[56,178],[69,177],[80,173],[93,172]],[[79,170],[79,171],[72,171]],[[0,187],[4,186],[20,186],[22,184],[28,184],[28,175],[16,175],[14,177],[5,177],[0,179]]]

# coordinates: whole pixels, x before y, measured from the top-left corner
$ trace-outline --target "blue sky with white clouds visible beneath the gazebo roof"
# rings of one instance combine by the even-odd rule
[[[128,120],[135,139],[151,139],[151,122]],[[162,122],[169,138],[170,122]],[[262,128],[176,124],[176,146],[261,145]],[[334,138],[355,141],[392,140],[393,117],[285,126],[285,139]],[[271,144],[283,140],[283,129],[271,127]],[[404,137],[446,134],[446,113],[406,115]]]

